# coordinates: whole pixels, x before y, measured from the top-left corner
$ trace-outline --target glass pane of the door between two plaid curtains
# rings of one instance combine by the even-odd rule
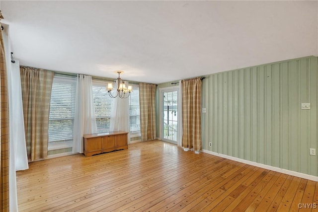
[[[177,144],[178,141],[178,91],[162,92],[162,137],[163,141]]]

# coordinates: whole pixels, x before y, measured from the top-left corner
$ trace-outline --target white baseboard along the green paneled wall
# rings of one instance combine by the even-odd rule
[[[304,174],[304,173],[299,173],[299,172],[296,172],[296,171],[282,169],[282,168],[278,168],[278,167],[274,167],[274,166],[270,166],[270,165],[265,165],[265,164],[262,164],[262,163],[257,163],[257,162],[253,162],[253,161],[249,161],[249,160],[245,160],[245,159],[240,159],[240,158],[237,158],[237,157],[229,156],[229,155],[226,155],[226,154],[220,154],[220,153],[213,152],[213,151],[208,151],[208,150],[205,150],[205,149],[203,149],[202,152],[208,153],[208,154],[212,154],[212,155],[215,155],[215,156],[219,156],[219,157],[223,157],[223,158],[227,158],[227,159],[230,159],[230,160],[238,161],[238,162],[245,163],[245,164],[248,164],[248,165],[257,166],[257,167],[260,167],[260,168],[269,169],[269,170],[280,172],[280,173],[283,173],[283,174],[289,174],[289,175],[292,175],[292,176],[295,176],[295,177],[301,177],[301,178],[304,178],[304,179],[313,180],[313,181],[318,182],[318,177],[317,176]]]

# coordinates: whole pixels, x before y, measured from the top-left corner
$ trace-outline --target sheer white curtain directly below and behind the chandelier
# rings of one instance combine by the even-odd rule
[[[117,87],[117,85],[114,85]],[[121,99],[118,96],[114,98],[111,107],[109,131],[125,131],[128,132],[128,142],[130,141],[130,125],[129,125],[129,98]]]

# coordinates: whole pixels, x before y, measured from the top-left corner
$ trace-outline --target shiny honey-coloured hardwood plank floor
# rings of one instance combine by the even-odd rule
[[[17,189],[20,212],[318,210],[315,181],[163,141],[32,162]]]

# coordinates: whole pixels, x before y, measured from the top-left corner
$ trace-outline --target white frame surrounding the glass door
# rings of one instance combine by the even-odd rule
[[[168,92],[168,91],[177,91],[178,92],[178,139],[175,142],[172,142],[171,140],[167,140],[163,138],[163,92]],[[171,87],[164,87],[164,88],[159,88],[159,135],[160,135],[160,140],[170,142],[173,144],[181,145],[181,139],[182,139],[182,113],[181,113],[181,102],[180,102],[180,95],[181,95],[181,89],[180,86],[171,86]]]

